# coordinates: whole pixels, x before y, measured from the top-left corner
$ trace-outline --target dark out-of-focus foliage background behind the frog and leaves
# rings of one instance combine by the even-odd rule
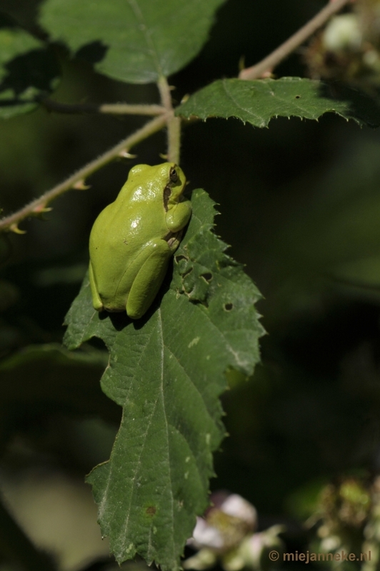
[[[41,34],[37,4],[0,0],[0,9]],[[246,65],[259,61],[323,5],[319,0],[226,2],[199,56],[171,77],[176,101],[221,76],[235,76],[241,56]],[[69,59],[63,49],[55,51],[63,77],[54,96],[58,101],[158,101],[154,86],[106,79],[89,64]],[[307,73],[299,54],[276,69],[278,76]],[[4,213],[24,206],[143,123],[135,117],[59,116],[44,109],[3,121]],[[131,166],[157,162],[164,150],[158,133],[137,148],[136,159],[102,169],[91,177],[89,191],[66,193],[45,220],[23,224],[25,236],[5,236],[0,243],[0,352],[3,363],[14,367],[0,370],[0,487],[25,529],[36,530],[35,541],[68,571],[114,568],[99,532],[86,543],[90,547],[81,551],[84,542],[76,544],[73,555],[73,537],[94,522],[93,505],[86,492],[74,495],[71,487],[60,486],[56,474],[82,490],[84,472],[108,458],[119,408],[100,389],[96,392],[100,361],[72,363],[54,343],[61,341],[64,315],[79,290],[94,218],[116,196]],[[254,503],[259,530],[285,524],[282,537],[289,552],[306,552],[311,545],[312,530],[301,521],[312,513],[332,521],[326,503],[320,515],[318,492],[330,486],[333,509],[339,482],[346,478],[371,497],[360,532],[379,545],[379,152],[379,131],[332,115],[318,123],[278,118],[267,129],[212,119],[184,131],[186,176],[193,188],[206,188],[220,203],[217,231],[264,294],[259,308],[269,332],[254,378],[234,378],[224,395],[229,438],[216,457],[218,478],[211,485]],[[89,353],[94,349],[102,347]],[[41,400],[41,385],[49,388],[48,403]],[[88,404],[86,410],[77,410],[79,400]],[[41,500],[41,510],[30,500],[42,497],[36,495],[36,478],[56,490]],[[16,502],[17,497],[24,501]],[[22,517],[20,504],[26,506]],[[49,520],[53,515],[61,522],[58,530]],[[47,528],[55,535],[46,539]],[[10,569],[6,562],[0,565],[1,571]]]

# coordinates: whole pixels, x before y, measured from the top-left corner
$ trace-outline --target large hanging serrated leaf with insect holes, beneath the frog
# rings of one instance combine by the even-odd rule
[[[119,562],[138,553],[164,571],[179,569],[208,502],[226,370],[251,375],[263,334],[259,291],[211,232],[214,203],[201,189],[191,201],[174,276],[144,318],[97,313],[88,279],[66,318],[70,348],[94,335],[106,343],[102,388],[123,407],[111,458],[88,478],[102,533]]]

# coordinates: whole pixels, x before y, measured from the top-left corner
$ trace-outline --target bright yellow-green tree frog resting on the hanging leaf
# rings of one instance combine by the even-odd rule
[[[175,163],[134,166],[116,201],[96,218],[89,278],[97,311],[126,310],[139,319],[148,310],[191,216],[185,185]]]

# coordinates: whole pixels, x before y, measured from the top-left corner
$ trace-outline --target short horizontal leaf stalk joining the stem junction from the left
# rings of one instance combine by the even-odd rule
[[[40,103],[48,111],[56,113],[110,113],[114,115],[161,115],[166,109],[161,105],[129,105],[129,103],[59,103],[44,98]]]

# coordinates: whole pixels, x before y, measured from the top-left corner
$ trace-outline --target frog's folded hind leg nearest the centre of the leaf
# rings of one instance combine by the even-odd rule
[[[151,253],[134,279],[126,301],[126,313],[132,319],[141,318],[148,310],[164,281],[171,258],[171,249],[164,240],[152,243],[149,248]]]

